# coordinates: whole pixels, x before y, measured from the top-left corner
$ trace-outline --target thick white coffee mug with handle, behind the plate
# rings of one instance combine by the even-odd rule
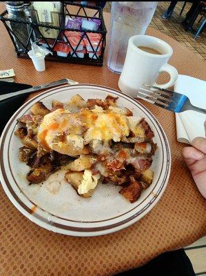
[[[157,50],[161,55],[155,55],[138,47],[147,47]],[[119,78],[119,88],[122,92],[136,97],[138,89],[144,84],[161,88],[169,88],[178,77],[176,68],[167,61],[173,50],[165,41],[149,35],[138,34],[130,37],[127,46],[127,55],[123,71]],[[156,79],[160,72],[169,73],[170,80],[165,84],[157,84]]]

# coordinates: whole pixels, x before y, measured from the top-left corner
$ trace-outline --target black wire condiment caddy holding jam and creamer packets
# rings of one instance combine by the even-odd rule
[[[76,6],[75,13],[71,12],[72,6]],[[0,14],[0,20],[3,22],[6,30],[8,31],[10,39],[12,40],[12,43],[14,45],[14,49],[17,52],[17,57],[29,58],[28,51],[31,50],[31,42],[33,41],[36,42],[39,46],[41,46],[43,43],[44,46],[48,48],[50,52],[52,52],[52,55],[47,55],[45,57],[45,60],[59,61],[65,63],[79,63],[92,66],[103,65],[107,30],[105,28],[103,10],[101,6],[81,5],[74,3],[73,1],[61,2],[61,12],[57,14],[57,16],[59,17],[59,26],[40,22],[38,19],[37,10],[30,10],[30,12],[31,16],[27,17],[27,19],[9,18],[7,10]],[[92,17],[88,15],[88,12],[90,14],[91,12],[94,13]],[[65,19],[68,17],[72,19],[76,19],[78,17],[79,19],[86,19],[88,21],[90,21],[90,19],[97,18],[100,20],[101,24],[98,30],[79,30],[76,28],[67,28],[65,27]],[[27,39],[24,38],[23,40],[23,35],[17,35],[17,33],[12,30],[11,26],[15,23],[19,24],[19,28],[21,28],[21,26],[24,28],[25,26],[27,26]],[[45,35],[43,34],[44,30],[51,30],[53,32],[55,30],[56,36],[52,39],[45,37]],[[70,37],[66,35],[68,31],[71,35],[76,33],[80,34],[79,41],[76,43],[75,46],[74,44],[72,45]],[[90,39],[92,34],[96,34],[97,37],[99,37],[99,40],[97,41],[95,47],[94,44],[92,44],[92,39]],[[83,44],[83,41],[85,40],[87,41],[87,45],[90,46],[90,52],[87,52],[86,48],[84,47],[85,52],[83,52],[82,54],[83,57],[79,57],[78,48],[81,44]],[[70,52],[67,57],[60,57],[59,55],[57,55],[56,46],[58,45],[58,43],[66,43],[69,46]],[[20,45],[21,47],[19,47],[18,45]]]

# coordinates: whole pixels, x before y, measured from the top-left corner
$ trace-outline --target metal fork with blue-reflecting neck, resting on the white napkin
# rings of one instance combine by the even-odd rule
[[[149,103],[154,103],[156,106],[176,113],[185,110],[194,110],[206,114],[206,109],[193,106],[187,96],[157,86],[145,84],[144,87],[139,88],[136,96]]]

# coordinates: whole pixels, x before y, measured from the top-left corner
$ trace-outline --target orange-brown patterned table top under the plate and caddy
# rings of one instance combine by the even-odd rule
[[[3,6],[0,6],[0,11]],[[107,29],[110,14],[105,13]],[[30,59],[18,59],[0,23],[0,70],[14,68],[15,81],[37,85],[63,78],[118,89],[119,75],[103,67],[47,61],[45,72],[34,70]],[[205,61],[165,34],[148,28],[174,49],[169,61],[179,74],[205,79]],[[107,39],[108,41],[108,39]],[[165,81],[166,76],[161,77]],[[23,217],[0,188],[1,275],[114,275],[141,266],[167,250],[187,246],[206,234],[206,204],[198,193],[176,141],[172,112],[141,101],[163,126],[172,150],[169,184],[158,204],[136,224],[100,237],[70,237],[52,233]]]

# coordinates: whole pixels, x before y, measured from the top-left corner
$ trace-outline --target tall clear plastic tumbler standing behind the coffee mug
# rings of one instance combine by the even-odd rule
[[[107,67],[112,72],[121,74],[130,37],[145,34],[156,5],[156,1],[112,1],[107,58]]]

